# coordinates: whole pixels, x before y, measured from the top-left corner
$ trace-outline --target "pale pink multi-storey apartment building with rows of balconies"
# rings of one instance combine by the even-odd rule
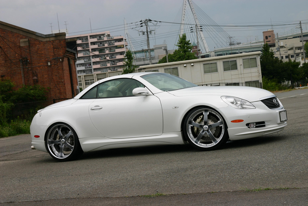
[[[111,36],[109,31],[67,36],[77,38],[76,69],[79,87],[122,73],[127,42],[123,36]]]

